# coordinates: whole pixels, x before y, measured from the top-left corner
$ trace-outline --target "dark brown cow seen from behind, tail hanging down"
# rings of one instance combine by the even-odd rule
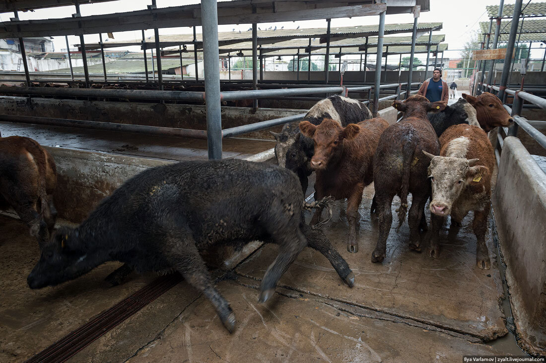
[[[397,194],[401,199],[398,209],[399,225],[406,219],[407,197],[412,193],[412,205],[408,224],[410,224],[410,248],[420,251],[419,229],[425,229],[423,221],[426,200],[430,195],[430,183],[426,180],[426,168],[430,160],[423,157],[422,150],[438,154],[440,145],[434,128],[426,113],[441,111],[446,107],[442,101],[430,103],[418,94],[405,102],[396,100],[393,106],[404,117],[390,126],[379,139],[373,156],[373,185],[379,212],[379,236],[377,246],[372,252],[372,262],[382,262],[387,251],[387,236],[393,222],[390,210]]]

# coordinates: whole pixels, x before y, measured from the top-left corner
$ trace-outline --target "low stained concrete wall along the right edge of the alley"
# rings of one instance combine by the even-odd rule
[[[546,354],[546,174],[517,138],[503,144],[493,202],[521,343]]]

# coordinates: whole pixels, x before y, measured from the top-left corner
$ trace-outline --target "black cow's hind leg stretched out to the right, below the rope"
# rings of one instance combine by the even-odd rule
[[[334,246],[332,246],[328,237],[324,235],[321,231],[312,229],[307,225],[302,225],[301,228],[305,239],[307,240],[307,247],[310,247],[318,252],[320,252],[324,257],[330,261],[330,264],[337,272],[337,275],[341,277],[343,281],[349,287],[354,285],[354,273],[349,268],[347,261],[341,257],[339,252],[336,251]]]

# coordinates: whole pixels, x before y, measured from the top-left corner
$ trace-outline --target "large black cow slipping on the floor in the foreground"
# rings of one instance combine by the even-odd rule
[[[265,272],[259,301],[305,246],[330,260],[349,285],[354,274],[319,234],[302,233],[303,194],[293,172],[275,165],[225,159],[160,166],[130,178],[102,201],[78,228],[63,228],[45,246],[28,276],[31,288],[74,279],[105,261],[120,269],[179,271],[215,306],[232,332],[235,315],[218,293],[200,250],[253,240],[274,242],[279,254]]]

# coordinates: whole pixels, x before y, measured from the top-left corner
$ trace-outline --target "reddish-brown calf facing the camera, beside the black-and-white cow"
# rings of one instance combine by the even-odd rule
[[[347,198],[349,252],[358,252],[358,207],[364,187],[373,180],[373,153],[379,136],[387,127],[388,122],[379,117],[345,128],[330,118],[318,126],[309,121],[300,122],[301,133],[314,140],[311,167],[317,171],[315,199],[321,200],[328,195],[335,199]],[[317,209],[311,224],[319,222],[321,213],[322,209]]]

